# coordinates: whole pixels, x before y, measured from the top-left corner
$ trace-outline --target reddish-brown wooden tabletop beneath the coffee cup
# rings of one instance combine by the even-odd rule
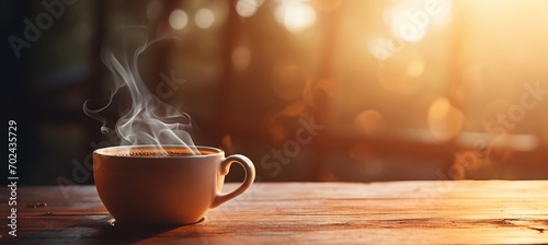
[[[93,186],[62,190],[19,187],[12,237],[2,188],[0,243],[548,244],[548,180],[255,183],[203,222],[164,230],[112,226]]]

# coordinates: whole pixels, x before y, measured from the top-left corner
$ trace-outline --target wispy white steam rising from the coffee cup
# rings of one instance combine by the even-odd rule
[[[163,39],[163,38],[161,38]],[[106,127],[106,120],[99,116],[99,113],[107,108],[114,95],[122,88],[127,88],[130,95],[130,107],[122,115],[115,125],[117,136],[122,145],[153,145],[163,152],[162,145],[175,144],[185,147],[191,152],[198,154],[194,147],[189,130],[192,129],[192,119],[185,113],[180,113],[175,107],[161,102],[145,85],[137,61],[139,56],[152,44],[161,40],[149,42],[148,38],[139,46],[133,55],[124,55],[118,60],[115,55],[103,45],[101,59],[111,70],[114,77],[114,86],[111,89],[107,104],[99,109],[90,109],[87,101],[83,105],[84,113],[103,122],[101,131],[109,133],[111,129]],[[124,43],[124,49],[126,43]]]

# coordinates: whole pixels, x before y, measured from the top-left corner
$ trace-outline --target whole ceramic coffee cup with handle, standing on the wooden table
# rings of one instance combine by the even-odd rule
[[[196,147],[112,147],[93,152],[95,187],[116,225],[176,226],[198,222],[208,209],[248,189],[254,180],[253,163],[244,155]],[[167,154],[168,153],[168,154]],[[221,194],[232,163],[246,171],[240,187]]]

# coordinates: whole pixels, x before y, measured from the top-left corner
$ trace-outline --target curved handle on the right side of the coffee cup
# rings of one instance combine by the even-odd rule
[[[243,179],[243,183],[240,185],[240,187],[236,188],[231,192],[221,194],[217,191],[213,200],[212,208],[216,208],[219,205],[222,205],[224,202],[240,196],[240,194],[246,191],[255,180],[255,167],[253,166],[253,163],[247,156],[241,154],[233,154],[222,160],[222,162],[220,162],[220,174],[227,175],[230,170],[230,165],[232,165],[232,163],[235,162],[239,163],[243,167],[246,172],[246,178]]]

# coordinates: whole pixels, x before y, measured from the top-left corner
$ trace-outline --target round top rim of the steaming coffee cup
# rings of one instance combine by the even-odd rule
[[[161,144],[161,145],[157,145],[157,144],[138,144],[138,145],[116,145],[116,147],[100,148],[100,149],[95,149],[93,151],[93,154],[104,155],[104,156],[110,156],[110,158],[132,159],[132,158],[136,158],[136,156],[135,155],[119,155],[119,154],[116,154],[116,153],[110,152],[110,151],[127,150],[127,149],[150,149],[150,150],[153,150],[153,149],[159,149],[159,147],[161,147],[161,149],[170,149],[170,148],[173,148],[173,149],[189,149],[189,148],[195,148],[199,152],[202,152],[203,150],[205,150],[205,151],[210,151],[210,153],[207,153],[207,154],[190,154],[190,155],[165,155],[165,156],[159,155],[159,156],[153,156],[153,159],[207,158],[207,156],[218,155],[218,154],[225,153],[225,151],[222,151],[221,149],[213,148],[213,147],[204,147],[204,145],[184,147],[184,145],[181,145],[181,144]],[[142,158],[142,156],[139,156],[139,158]]]

